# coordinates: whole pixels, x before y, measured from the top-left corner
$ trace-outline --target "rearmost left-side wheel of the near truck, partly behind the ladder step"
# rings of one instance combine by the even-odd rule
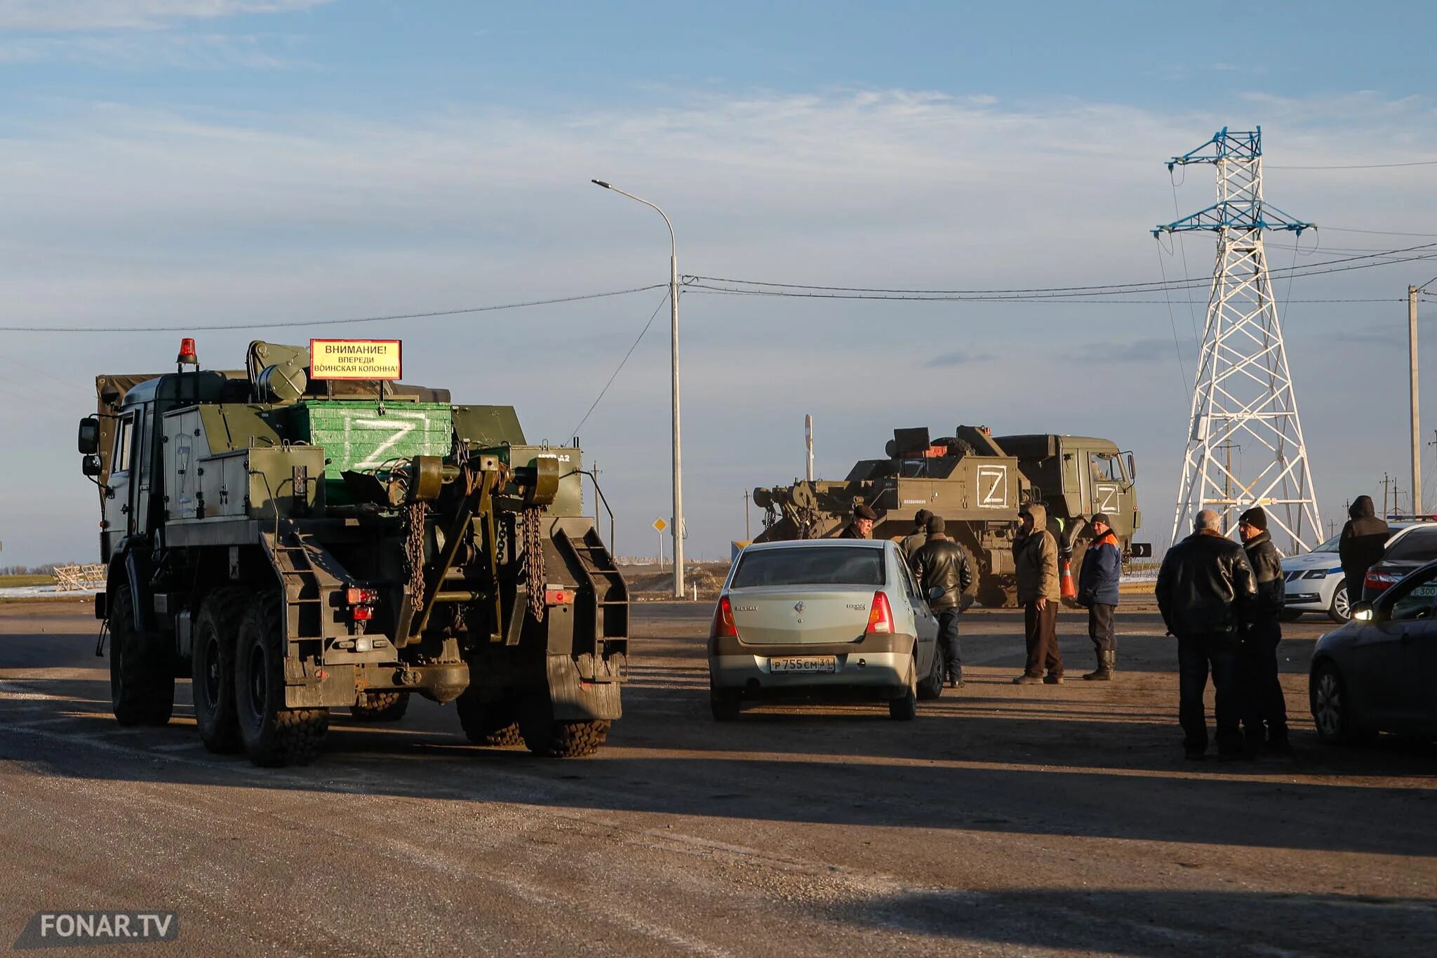
[[[234,654],[240,740],[256,766],[308,766],[329,731],[328,708],[285,708],[285,629],[279,592],[250,599]]]

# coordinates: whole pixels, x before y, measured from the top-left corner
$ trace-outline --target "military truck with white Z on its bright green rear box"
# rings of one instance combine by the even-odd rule
[[[443,389],[315,382],[308,349],[264,342],[221,372],[187,339],[175,372],[95,386],[79,451],[121,724],[167,724],[190,676],[204,745],[259,766],[312,761],[331,708],[397,720],[412,694],[456,702],[474,743],[604,743],[628,587],[576,442]]]

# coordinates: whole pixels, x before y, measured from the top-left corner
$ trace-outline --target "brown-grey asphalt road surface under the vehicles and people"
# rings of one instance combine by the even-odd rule
[[[42,909],[164,909],[174,954],[1431,954],[1437,750],[1326,750],[1321,622],[1282,646],[1296,755],[1186,763],[1175,649],[1119,613],[1112,684],[1015,687],[1015,613],[963,619],[969,684],[708,717],[710,606],[637,608],[599,755],[476,748],[450,708],[336,714],[260,770],[109,717],[83,606],[0,605],[0,938]],[[1091,668],[1076,616],[1069,672]],[[115,954],[106,949],[105,954]],[[129,954],[122,949],[119,954]]]

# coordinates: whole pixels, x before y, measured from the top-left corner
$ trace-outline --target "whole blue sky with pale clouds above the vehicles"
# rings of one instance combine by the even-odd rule
[[[1381,3],[0,0],[4,315],[303,320],[664,282],[662,223],[591,177],[665,207],[685,273],[1050,286],[1171,277],[1186,256],[1201,276],[1209,240],[1168,254],[1147,230],[1211,203],[1209,169],[1174,187],[1163,161],[1223,125],[1260,124],[1269,200],[1334,227],[1303,259],[1433,241],[1344,230],[1437,234],[1437,167],[1282,167],[1437,158],[1434,27],[1424,4]],[[1275,267],[1298,256],[1272,238]],[[1431,274],[1318,277],[1290,297],[1397,299]],[[352,329],[402,336],[410,378],[512,402],[533,438],[563,441],[658,302]],[[691,552],[726,554],[741,491],[800,471],[805,412],[828,475],[901,425],[1109,435],[1138,452],[1147,531],[1167,537],[1184,302],[1175,323],[1151,303],[687,294],[683,312]],[[1338,518],[1405,468],[1405,307],[1283,316]],[[73,419],[96,372],[162,368],[175,338],[0,333],[0,441],[26,462],[0,480],[0,564],[91,557]],[[233,366],[251,336],[198,338],[207,365]],[[621,552],[652,552],[668,513],[667,346],[655,323],[583,429]]]

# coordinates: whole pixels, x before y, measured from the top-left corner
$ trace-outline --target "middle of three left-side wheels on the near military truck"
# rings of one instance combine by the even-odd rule
[[[234,643],[240,619],[250,599],[247,589],[211,592],[200,605],[190,651],[194,724],[200,741],[216,754],[240,750],[240,725],[234,717]]]

